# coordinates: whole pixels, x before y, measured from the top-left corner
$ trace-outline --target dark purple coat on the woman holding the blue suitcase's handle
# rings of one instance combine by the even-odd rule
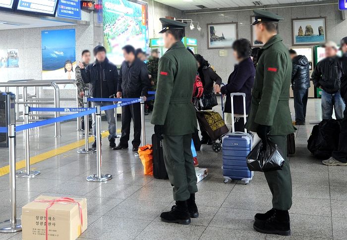
[[[246,94],[246,114],[249,113],[251,107],[251,93],[254,84],[255,69],[251,58],[242,60],[238,65],[234,66],[233,72],[230,74],[228,84],[221,88],[222,94],[227,95],[225,112],[231,113],[231,93]],[[233,98],[234,114],[243,114],[243,98],[235,96]]]

